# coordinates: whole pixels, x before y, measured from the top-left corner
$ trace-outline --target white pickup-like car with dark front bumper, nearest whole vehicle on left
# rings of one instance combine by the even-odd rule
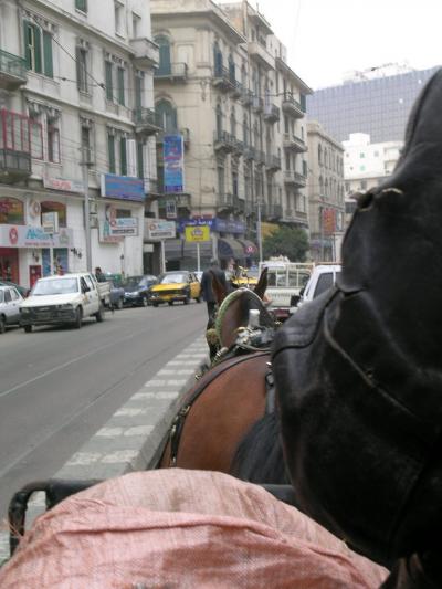
[[[80,329],[91,316],[102,322],[104,304],[97,282],[87,272],[40,278],[20,305],[20,325],[27,333],[34,325],[71,324]]]

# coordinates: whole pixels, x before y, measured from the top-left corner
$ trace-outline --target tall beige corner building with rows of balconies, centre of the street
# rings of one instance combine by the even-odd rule
[[[211,229],[212,241],[200,248],[203,263],[214,254],[223,265],[250,265],[259,256],[260,218],[308,228],[311,90],[248,2],[150,4],[159,45],[155,111],[164,132],[157,136],[158,207],[160,217],[177,221],[180,235],[166,243],[168,267],[197,267],[196,245],[182,240],[188,224]],[[173,169],[170,175],[170,136],[182,137],[182,185]]]

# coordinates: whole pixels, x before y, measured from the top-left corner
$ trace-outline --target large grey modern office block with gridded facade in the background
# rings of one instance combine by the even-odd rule
[[[307,116],[338,141],[367,133],[371,143],[402,140],[411,107],[439,67],[346,82],[307,96]]]

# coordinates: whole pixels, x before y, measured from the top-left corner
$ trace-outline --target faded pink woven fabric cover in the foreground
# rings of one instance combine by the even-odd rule
[[[9,588],[378,588],[387,570],[256,485],[137,472],[39,517],[0,569]]]

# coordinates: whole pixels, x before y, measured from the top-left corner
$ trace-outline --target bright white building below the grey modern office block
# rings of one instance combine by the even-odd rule
[[[403,140],[372,144],[365,133],[352,133],[345,148],[344,176],[346,196],[346,222],[356,207],[351,194],[379,186],[390,176],[398,162]]]

